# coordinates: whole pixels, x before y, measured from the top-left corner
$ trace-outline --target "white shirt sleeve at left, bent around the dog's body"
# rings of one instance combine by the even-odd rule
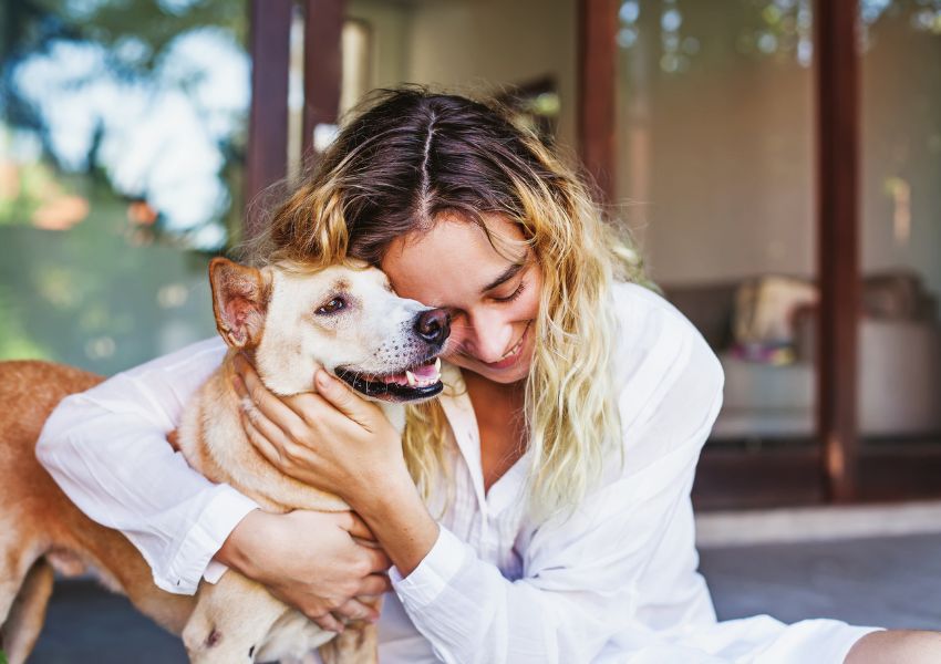
[[[122,531],[168,592],[192,594],[204,574],[218,580],[226,568],[210,559],[258,508],[190,468],[166,440],[225,352],[221,340],[210,339],[71,395],[37,445],[65,495],[93,520]]]

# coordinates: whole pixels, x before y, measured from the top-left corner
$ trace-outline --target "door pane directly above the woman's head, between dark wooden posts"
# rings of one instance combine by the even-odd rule
[[[506,94],[545,137],[575,147],[575,0],[351,0],[347,15],[344,103],[366,82]]]

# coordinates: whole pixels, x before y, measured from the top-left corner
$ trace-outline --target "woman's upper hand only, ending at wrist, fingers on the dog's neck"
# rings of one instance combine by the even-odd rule
[[[241,356],[235,388],[251,407],[242,425],[279,470],[343,498],[359,511],[384,489],[413,488],[399,433],[382,411],[342,381],[318,371],[317,394],[278,397]]]

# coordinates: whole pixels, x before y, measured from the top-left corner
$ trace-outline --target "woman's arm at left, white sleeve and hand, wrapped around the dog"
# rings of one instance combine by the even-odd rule
[[[331,610],[372,615],[351,598],[383,592],[389,562],[353,539],[371,538],[361,521],[350,512],[262,512],[167,444],[225,352],[221,340],[207,340],[68,397],[46,422],[37,456],[80,509],[134,543],[166,591],[193,593],[225,563],[327,629],[340,629]]]

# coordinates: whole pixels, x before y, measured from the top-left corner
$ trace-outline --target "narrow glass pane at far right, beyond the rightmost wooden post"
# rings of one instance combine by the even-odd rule
[[[941,2],[861,3],[864,442],[941,442]],[[937,484],[937,483],[935,483]]]

